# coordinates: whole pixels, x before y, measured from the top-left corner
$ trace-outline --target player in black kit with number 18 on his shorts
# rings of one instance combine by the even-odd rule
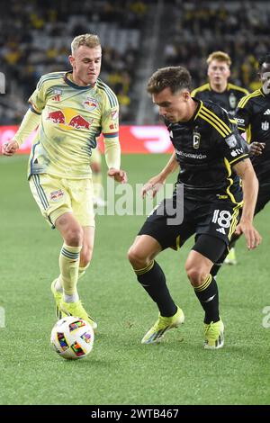
[[[195,234],[185,270],[205,312],[204,347],[216,349],[223,347],[224,326],[211,266],[236,228],[244,233],[248,248],[260,243],[252,224],[258,184],[236,121],[217,104],[193,99],[190,85],[191,76],[184,67],[158,69],[148,81],[148,93],[165,118],[175,155],[144,186],[143,194],[151,188],[157,192],[157,184],[164,184],[175,166],[180,165],[180,171],[173,197],[161,202],[145,221],[130,247],[129,259],[139,284],[157,303],[158,320],[141,340],[143,344],[155,343],[166,330],[184,321],[155,257],[167,247],[181,247]]]

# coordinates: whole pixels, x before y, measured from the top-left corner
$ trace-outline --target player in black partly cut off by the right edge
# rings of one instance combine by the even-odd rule
[[[243,97],[236,110],[238,129],[247,131],[247,143],[261,148],[251,157],[259,182],[255,214],[270,201],[270,54],[259,59],[258,75],[261,88]],[[235,243],[238,238],[239,235],[234,234],[231,242]],[[218,273],[222,258],[213,267],[212,275]]]

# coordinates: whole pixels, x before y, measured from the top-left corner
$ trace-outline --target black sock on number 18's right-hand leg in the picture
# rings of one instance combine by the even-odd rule
[[[204,323],[219,321],[219,290],[215,278],[208,275],[202,285],[194,288],[194,292],[205,311]]]

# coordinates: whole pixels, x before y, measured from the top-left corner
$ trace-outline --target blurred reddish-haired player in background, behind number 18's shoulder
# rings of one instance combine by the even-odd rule
[[[231,60],[224,51],[213,51],[207,58],[209,83],[195,88],[193,97],[199,100],[211,100],[227,110],[232,116],[238,105],[238,101],[248,94],[245,88],[229,83]],[[234,245],[230,247],[229,254],[225,259],[228,265],[236,265],[237,258]]]

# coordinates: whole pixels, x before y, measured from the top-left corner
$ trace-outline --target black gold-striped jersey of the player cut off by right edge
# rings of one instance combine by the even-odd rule
[[[239,130],[247,130],[247,142],[265,142],[260,156],[251,157],[259,182],[270,182],[270,94],[262,89],[243,97],[238,103],[237,121]]]

